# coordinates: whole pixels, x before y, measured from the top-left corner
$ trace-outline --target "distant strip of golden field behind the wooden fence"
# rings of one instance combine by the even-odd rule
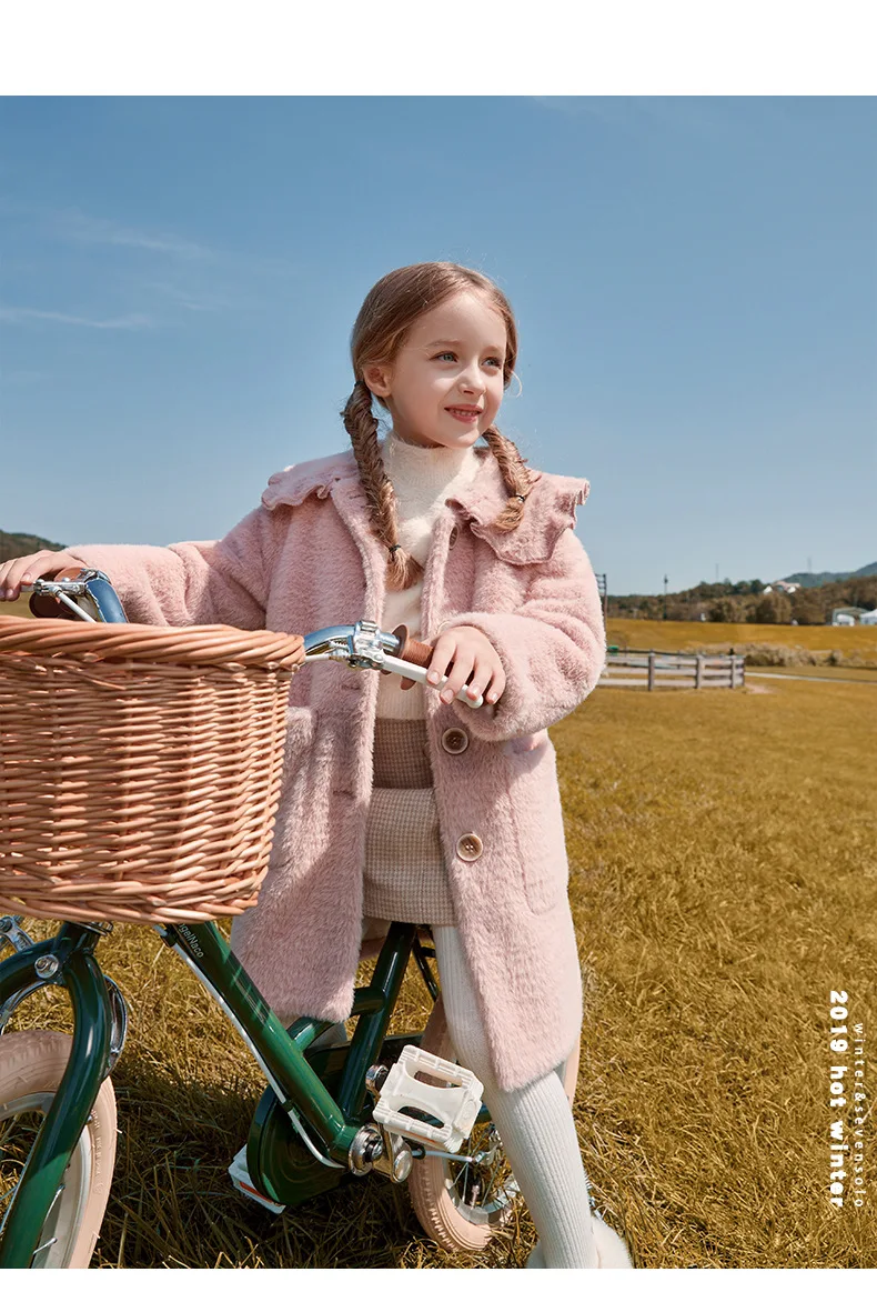
[[[610,643],[640,651],[728,651],[783,647],[797,663],[869,665],[877,669],[877,625],[713,625],[674,619],[610,619]],[[832,652],[836,653],[832,660]]]

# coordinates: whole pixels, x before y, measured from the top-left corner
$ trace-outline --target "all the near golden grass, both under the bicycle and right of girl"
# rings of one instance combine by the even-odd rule
[[[598,689],[552,729],[586,979],[575,1118],[594,1202],[641,1267],[877,1266],[870,1122],[865,1206],[828,1203],[830,989],[877,1043],[876,731],[867,684],[779,680]],[[153,933],[117,928],[100,956],[131,1027],[94,1265],[523,1265],[526,1214],[450,1257],[384,1178],[279,1218],[241,1199],[225,1166],[262,1088],[252,1057]],[[412,977],[400,1029],[425,998]],[[50,991],[16,1019],[67,1027]]]

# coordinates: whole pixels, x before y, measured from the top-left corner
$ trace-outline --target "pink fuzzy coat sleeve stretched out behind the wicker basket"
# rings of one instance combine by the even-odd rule
[[[216,542],[67,550],[107,575],[132,623],[263,628],[278,551],[274,514],[260,505]]]

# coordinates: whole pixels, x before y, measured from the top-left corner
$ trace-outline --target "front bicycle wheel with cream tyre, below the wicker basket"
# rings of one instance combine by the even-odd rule
[[[0,1038],[0,1231],[43,1117],[69,1057],[72,1038],[24,1031]],[[71,1153],[46,1216],[31,1267],[88,1266],[115,1164],[115,1093],[106,1078]]]

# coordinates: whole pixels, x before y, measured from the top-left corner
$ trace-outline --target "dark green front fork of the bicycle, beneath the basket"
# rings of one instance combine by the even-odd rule
[[[73,1044],[4,1218],[0,1232],[3,1269],[30,1266],[46,1215],[63,1187],[71,1153],[110,1067],[114,1009],[107,983],[93,956],[98,934],[87,926],[64,925],[55,939],[18,947],[26,935],[20,930],[14,937],[9,930],[4,933],[17,951],[0,963],[0,1030],[24,997],[46,984],[59,984],[69,993],[73,1008]]]

